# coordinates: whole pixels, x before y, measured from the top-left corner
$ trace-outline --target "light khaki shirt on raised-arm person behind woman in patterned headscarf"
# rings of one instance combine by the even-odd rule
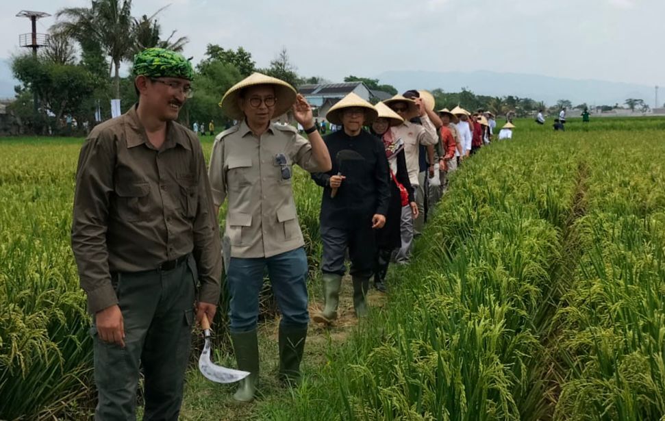
[[[395,139],[403,140],[404,142],[404,157],[406,158],[406,168],[409,170],[409,180],[412,186],[418,186],[418,173],[420,172],[420,164],[418,157],[420,157],[419,146],[435,145],[439,141],[436,127],[429,120],[428,116],[422,116],[421,122],[423,125],[418,125],[405,120],[399,126],[392,127],[392,136]]]

